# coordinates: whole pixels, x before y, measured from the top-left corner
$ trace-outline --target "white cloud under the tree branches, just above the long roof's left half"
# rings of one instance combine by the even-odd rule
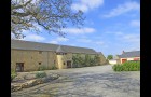
[[[24,39],[20,40],[28,40],[28,41],[44,41],[45,38],[38,36],[38,34],[27,34]]]

